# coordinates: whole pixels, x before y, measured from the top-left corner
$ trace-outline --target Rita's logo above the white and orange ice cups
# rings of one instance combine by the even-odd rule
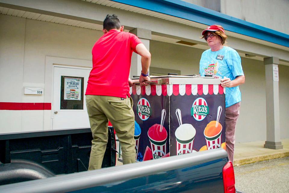
[[[202,121],[209,114],[209,107],[207,101],[199,97],[197,98],[191,108],[191,116],[197,121]]]

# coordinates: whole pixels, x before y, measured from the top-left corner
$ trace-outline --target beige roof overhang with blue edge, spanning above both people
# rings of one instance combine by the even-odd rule
[[[174,44],[178,44],[182,46],[189,46],[189,47],[197,48],[197,49],[209,48],[205,42],[197,40],[197,39],[200,39],[199,38],[200,35],[198,34],[203,29],[205,29],[207,25],[216,24],[217,21],[220,21],[220,23],[218,24],[222,24],[224,27],[226,25],[229,27],[234,26],[234,25],[237,26],[238,22],[246,23],[248,25],[254,25],[255,28],[257,26],[255,24],[251,24],[249,22],[245,22],[243,20],[239,20],[239,19],[230,17],[228,15],[221,14],[219,12],[212,11],[210,9],[196,6],[196,5],[179,1],[179,0],[177,1],[166,1],[166,0],[162,0],[162,1],[161,0],[155,0],[155,1],[152,1],[152,0],[138,0],[138,1],[124,1],[124,0],[121,0],[121,1],[120,0],[67,1],[67,0],[61,0],[61,1],[57,1],[57,0],[54,0],[51,2],[42,1],[41,3],[37,3],[37,4],[34,4],[33,2],[36,2],[36,0],[35,1],[27,0],[26,2],[23,2],[20,0],[0,0],[0,6],[3,6],[2,8],[0,7],[0,13],[14,15],[17,17],[24,17],[28,19],[35,19],[35,20],[40,20],[40,21],[48,21],[48,22],[53,22],[53,23],[58,23],[58,24],[66,24],[66,25],[71,25],[71,26],[76,26],[76,27],[83,27],[83,28],[94,29],[94,30],[102,29],[102,20],[103,20],[104,14],[111,13],[113,10],[115,10],[118,14],[121,13],[121,15],[125,17],[127,17],[129,14],[133,15],[134,17],[137,17],[137,19],[132,18],[132,22],[131,21],[127,22],[126,20],[123,20],[124,22],[126,22],[127,25],[125,28],[128,30],[132,30],[138,25],[141,25],[141,23],[138,24],[138,21],[145,21],[144,23],[148,24],[149,22],[151,22],[151,19],[149,17],[155,17],[158,19],[158,20],[154,20],[154,22],[156,22],[157,25],[163,25],[164,23],[168,24],[166,25],[166,30],[170,29],[169,27],[173,27],[174,26],[172,25],[173,23],[176,23],[176,26],[182,28],[183,30],[185,29],[186,33],[180,30],[174,30],[174,33],[170,33],[170,32],[166,33],[167,32],[166,30],[154,31],[156,30],[155,26],[157,26],[157,25],[154,25],[154,30],[151,31],[152,40],[167,42],[167,43],[174,43]],[[55,5],[55,2],[59,2],[60,5]],[[89,6],[85,2],[87,2],[88,4],[91,3],[91,4],[97,4],[97,5]],[[177,6],[176,5],[177,3],[180,3],[180,4]],[[61,7],[63,6],[67,6],[67,9],[62,9]],[[69,6],[70,8],[68,8]],[[83,12],[82,10],[84,9],[87,11]],[[152,11],[152,10],[155,10],[155,11]],[[174,11],[174,10],[178,10],[178,11]],[[189,13],[184,14],[185,11]],[[142,20],[142,17],[140,17],[140,15],[144,15],[145,19]],[[218,15],[219,17],[217,17]],[[231,19],[229,20],[228,18],[231,18]],[[234,19],[237,20],[238,22],[234,22]],[[206,21],[207,23],[203,21]],[[212,23],[208,23],[208,22],[212,22]],[[148,26],[145,26],[145,25],[141,25],[141,27],[144,27],[144,29],[150,29],[150,28],[147,28]],[[245,25],[243,25],[243,27],[245,27]],[[262,28],[261,26],[259,27],[260,29]],[[250,29],[250,27],[247,27],[247,30],[248,29]],[[264,28],[264,29],[267,29],[267,28]],[[261,40],[258,37],[256,38],[256,37],[244,35],[244,33],[242,34],[241,28],[236,27],[237,32],[233,32],[230,30],[231,28],[227,29],[225,27],[226,34],[230,37],[233,37],[233,38],[230,38],[231,46],[235,44],[234,49],[236,49],[242,57],[250,57],[250,59],[263,61],[263,58],[265,57],[275,56],[279,58],[280,64],[289,66],[289,62],[288,62],[289,61],[289,58],[288,58],[289,47],[288,46],[283,46],[280,44],[272,43],[272,41],[269,42],[266,40]],[[254,31],[253,28],[251,30]],[[270,30],[270,29],[267,29],[267,30]],[[271,31],[274,31],[274,30],[271,30]],[[180,35],[179,32],[182,32],[182,35]],[[264,30],[264,33],[265,32],[267,31]],[[278,33],[279,33],[279,37],[281,38],[280,34],[283,34],[283,33],[276,32],[276,34]],[[256,36],[258,34],[260,33],[256,33]],[[287,38],[288,35],[286,34],[283,34],[283,35],[284,36],[282,36],[282,38],[284,40]],[[179,42],[181,40],[194,43],[194,45],[180,44]],[[242,45],[242,46],[240,47],[239,45]],[[264,47],[263,45],[266,47]],[[237,47],[241,49],[238,50]],[[256,52],[256,50],[260,50],[261,47],[262,47],[262,51]]]

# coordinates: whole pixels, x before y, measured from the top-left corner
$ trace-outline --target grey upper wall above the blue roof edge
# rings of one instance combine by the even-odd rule
[[[183,0],[289,34],[288,0]]]

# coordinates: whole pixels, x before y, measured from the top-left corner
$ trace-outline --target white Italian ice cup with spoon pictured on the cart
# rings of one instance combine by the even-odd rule
[[[191,124],[182,124],[181,110],[176,109],[179,127],[175,131],[177,155],[192,153],[196,129]]]

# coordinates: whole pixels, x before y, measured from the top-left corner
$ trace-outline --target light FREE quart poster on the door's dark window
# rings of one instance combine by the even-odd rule
[[[64,100],[81,100],[81,78],[64,77]]]

